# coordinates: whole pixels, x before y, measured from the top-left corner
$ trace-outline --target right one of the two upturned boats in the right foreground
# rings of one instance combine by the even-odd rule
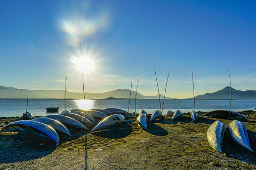
[[[228,134],[239,146],[253,152],[247,130],[243,122],[237,120],[230,122],[228,125]]]

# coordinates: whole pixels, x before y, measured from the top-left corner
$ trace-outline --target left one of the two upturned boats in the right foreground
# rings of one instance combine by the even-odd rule
[[[213,124],[210,125],[209,129],[207,130],[207,139],[210,146],[221,153],[223,153],[222,143],[224,132],[225,124],[221,121],[215,121]]]

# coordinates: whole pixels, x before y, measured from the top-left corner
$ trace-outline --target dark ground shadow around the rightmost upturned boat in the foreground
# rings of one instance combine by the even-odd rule
[[[256,132],[247,130],[247,133],[253,152],[239,147],[235,143],[235,141],[229,137],[227,130],[225,131],[225,135],[223,138],[222,148],[226,154],[226,157],[235,158],[238,160],[242,160],[243,162],[256,165]]]

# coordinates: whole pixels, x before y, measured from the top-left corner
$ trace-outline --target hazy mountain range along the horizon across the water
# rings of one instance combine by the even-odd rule
[[[236,90],[234,88],[232,91],[232,99],[256,99],[255,90]],[[131,92],[131,98],[135,98],[135,91]],[[64,90],[29,90],[30,99],[63,99],[65,91]],[[85,92],[86,99],[127,99],[130,96],[130,90],[128,89],[117,89],[101,93],[90,93]],[[160,95],[163,99],[163,95]],[[27,89],[17,89],[13,87],[0,86],[0,99],[26,99]],[[69,92],[66,91],[66,98],[68,99],[82,99],[83,93],[81,92]],[[159,99],[157,96],[143,96],[137,92],[137,99]],[[165,97],[165,99],[177,99],[171,97]],[[193,98],[186,98],[193,99]],[[195,97],[197,100],[225,100],[230,99],[230,87],[227,86],[221,90],[213,93],[206,93],[204,95],[198,95]]]

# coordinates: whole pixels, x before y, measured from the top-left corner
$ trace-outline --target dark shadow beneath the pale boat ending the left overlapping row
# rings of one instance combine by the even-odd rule
[[[131,133],[132,126],[130,126],[127,123],[122,123],[109,129],[103,129],[100,131],[92,132],[93,135],[109,139],[125,138]]]

